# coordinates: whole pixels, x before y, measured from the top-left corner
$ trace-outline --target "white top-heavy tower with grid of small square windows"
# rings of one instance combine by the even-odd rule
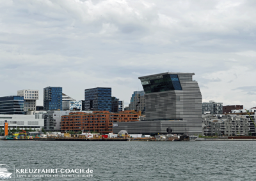
[[[39,99],[38,90],[23,89],[18,91],[17,95],[24,97],[24,112],[36,110],[36,100]]]

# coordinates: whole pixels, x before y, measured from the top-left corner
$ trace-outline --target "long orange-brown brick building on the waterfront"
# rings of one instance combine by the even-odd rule
[[[113,122],[132,122],[139,120],[139,113],[128,110],[119,113],[100,111],[93,113],[69,113],[61,116],[61,131],[96,131],[112,133]]]

